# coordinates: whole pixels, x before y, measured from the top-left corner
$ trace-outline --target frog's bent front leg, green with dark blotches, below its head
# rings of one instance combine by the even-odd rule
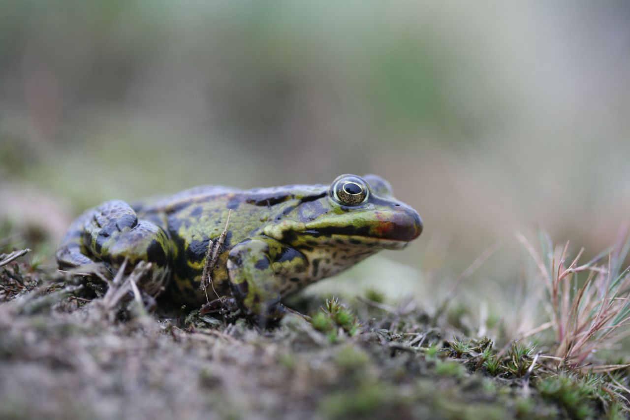
[[[260,325],[278,320],[287,312],[280,303],[282,284],[275,274],[277,265],[282,264],[278,257],[284,250],[277,240],[260,236],[237,244],[229,253],[227,270],[232,296],[246,315]]]

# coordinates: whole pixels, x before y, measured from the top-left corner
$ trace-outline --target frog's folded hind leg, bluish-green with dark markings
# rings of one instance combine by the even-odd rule
[[[172,248],[168,233],[156,224],[138,219],[123,201],[108,201],[86,211],[66,234],[57,251],[60,267],[98,262],[115,274],[125,259],[127,271],[144,260],[151,270],[139,285],[152,296],[164,289],[169,278]]]

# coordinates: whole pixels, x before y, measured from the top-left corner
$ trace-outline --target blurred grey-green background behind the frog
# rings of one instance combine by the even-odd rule
[[[425,232],[347,276],[444,295],[500,242],[467,287],[509,294],[515,231],[588,256],[630,216],[629,20],[623,1],[4,0],[0,218],[56,243],[108,199],[377,173]]]

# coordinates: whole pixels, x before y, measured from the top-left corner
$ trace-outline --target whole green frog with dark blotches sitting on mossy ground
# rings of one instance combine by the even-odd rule
[[[249,190],[204,185],[89,209],[56,259],[62,270],[96,265],[110,276],[150,263],[139,282],[149,296],[195,308],[229,301],[264,323],[290,312],[287,296],[379,250],[402,249],[422,230],[420,214],[378,175]]]

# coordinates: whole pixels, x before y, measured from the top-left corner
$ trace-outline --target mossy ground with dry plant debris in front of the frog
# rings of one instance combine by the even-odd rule
[[[495,348],[484,337],[455,336],[415,303],[390,306],[374,291],[348,301],[297,296],[291,305],[310,324],[290,316],[260,330],[230,314],[149,313],[131,293],[96,298],[99,288],[28,255],[0,267],[0,418],[627,413],[627,395],[609,386],[627,383],[625,370],[588,376],[540,361],[532,367],[536,349],[525,342]]]

